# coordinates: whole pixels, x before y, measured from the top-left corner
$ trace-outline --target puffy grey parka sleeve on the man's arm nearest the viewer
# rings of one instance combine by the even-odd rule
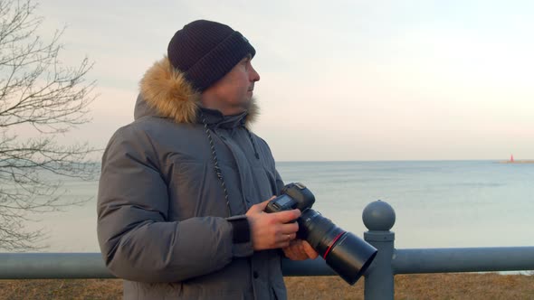
[[[234,243],[234,221],[198,217],[167,221],[167,184],[148,136],[119,129],[103,157],[97,232],[106,266],[117,277],[176,282],[212,273],[234,257],[253,254]]]

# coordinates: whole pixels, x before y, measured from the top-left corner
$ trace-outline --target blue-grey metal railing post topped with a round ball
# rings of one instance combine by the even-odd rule
[[[362,219],[368,230],[364,233],[364,239],[378,250],[377,257],[365,275],[365,299],[393,299],[395,233],[389,230],[395,224],[395,211],[386,202],[378,200],[367,204]]]

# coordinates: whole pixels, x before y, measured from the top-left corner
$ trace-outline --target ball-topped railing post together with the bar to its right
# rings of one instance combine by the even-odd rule
[[[363,211],[364,239],[378,249],[367,269],[366,299],[393,299],[396,274],[524,271],[534,269],[534,247],[396,249],[390,231],[396,215],[386,202],[371,202]]]

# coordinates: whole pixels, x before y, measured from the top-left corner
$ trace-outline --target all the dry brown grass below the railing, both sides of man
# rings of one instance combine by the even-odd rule
[[[286,277],[289,299],[363,299],[364,280]],[[396,299],[534,299],[534,276],[498,274],[401,275]],[[118,279],[0,280],[0,299],[121,299]]]

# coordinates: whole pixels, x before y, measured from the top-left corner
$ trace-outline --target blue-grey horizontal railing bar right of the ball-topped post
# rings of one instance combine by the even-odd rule
[[[395,274],[534,270],[534,247],[396,249]]]

